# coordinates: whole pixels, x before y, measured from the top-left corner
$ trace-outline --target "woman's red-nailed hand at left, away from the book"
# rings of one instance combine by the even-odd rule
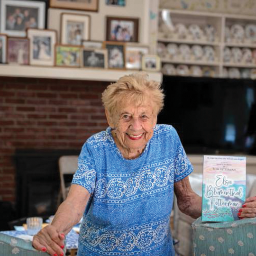
[[[34,236],[32,245],[37,250],[47,252],[51,256],[64,256],[64,239],[65,235],[49,224]]]

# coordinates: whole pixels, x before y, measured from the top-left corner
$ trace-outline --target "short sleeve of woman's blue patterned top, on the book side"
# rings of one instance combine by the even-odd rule
[[[186,152],[182,146],[180,137],[175,129],[174,129],[174,143],[176,146],[176,151],[174,156],[174,182],[178,182],[192,173],[193,166],[186,155]]]

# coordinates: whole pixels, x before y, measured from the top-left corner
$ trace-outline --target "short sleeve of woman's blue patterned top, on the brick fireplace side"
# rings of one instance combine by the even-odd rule
[[[88,144],[82,146],[78,157],[78,168],[73,175],[72,184],[81,185],[90,193],[94,191],[96,181],[96,168]]]

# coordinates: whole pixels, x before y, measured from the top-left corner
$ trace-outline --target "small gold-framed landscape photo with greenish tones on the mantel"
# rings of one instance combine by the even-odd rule
[[[60,67],[80,67],[82,61],[82,47],[56,45],[55,65]]]

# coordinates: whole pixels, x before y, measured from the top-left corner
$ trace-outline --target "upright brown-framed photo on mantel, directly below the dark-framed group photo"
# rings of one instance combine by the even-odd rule
[[[103,48],[108,50],[109,69],[125,69],[125,43],[106,41]]]

